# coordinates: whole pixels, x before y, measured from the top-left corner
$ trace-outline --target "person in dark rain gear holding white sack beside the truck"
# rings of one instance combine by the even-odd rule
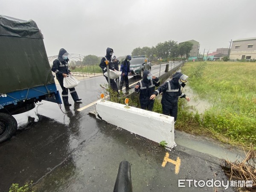
[[[53,61],[52,65],[52,72],[56,73],[56,78],[61,86],[62,89],[62,100],[65,106],[71,106],[71,104],[68,102],[68,89],[63,86],[63,79],[66,78],[69,75],[72,75],[70,72],[70,69],[68,68],[68,52],[65,49],[60,49],[58,54],[58,59],[55,59]],[[75,87],[70,88],[70,94],[75,102],[81,101],[79,99]]]

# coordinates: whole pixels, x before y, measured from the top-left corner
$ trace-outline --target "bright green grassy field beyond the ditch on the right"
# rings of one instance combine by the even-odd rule
[[[177,127],[199,133],[207,130],[228,143],[255,146],[256,64],[191,62],[182,67],[182,72],[189,76],[189,87],[213,105],[203,114],[192,113],[180,99],[183,110],[179,110]]]

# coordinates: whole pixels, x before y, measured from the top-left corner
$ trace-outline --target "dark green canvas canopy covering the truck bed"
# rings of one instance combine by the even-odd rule
[[[0,94],[53,84],[43,37],[33,20],[0,15]]]

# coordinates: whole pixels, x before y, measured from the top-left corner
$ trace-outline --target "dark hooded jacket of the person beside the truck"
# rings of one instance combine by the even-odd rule
[[[58,54],[58,59],[55,59],[52,64],[52,72],[56,73],[56,78],[57,79],[63,79],[64,77],[62,76],[63,73],[69,74],[70,69],[68,68],[68,61],[69,59],[67,58],[64,60],[62,58],[62,55],[66,53],[67,51],[65,49],[60,49],[59,54]]]

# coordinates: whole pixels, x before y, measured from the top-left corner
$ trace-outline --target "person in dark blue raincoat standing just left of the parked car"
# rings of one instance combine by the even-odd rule
[[[125,60],[122,61],[122,64],[120,67],[120,71],[122,71],[120,87],[119,87],[120,91],[122,91],[122,86],[124,84],[124,81],[125,81],[125,90],[128,91],[129,89],[131,89],[129,87],[129,80],[128,80],[128,74],[131,75],[130,60],[131,60],[131,55],[127,55],[125,57]]]

